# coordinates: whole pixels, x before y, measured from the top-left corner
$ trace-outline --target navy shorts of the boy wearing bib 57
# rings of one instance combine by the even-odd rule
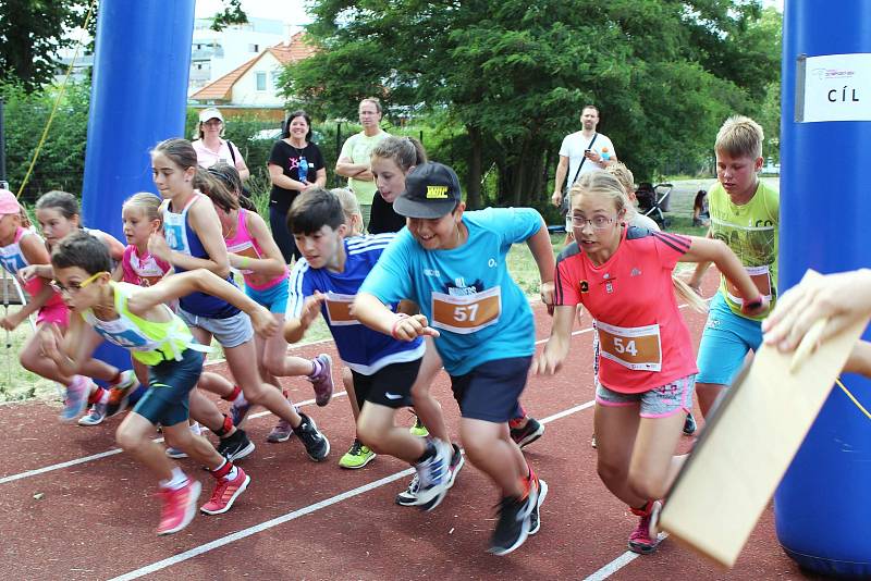
[[[486,361],[463,375],[451,375],[451,390],[464,418],[503,423],[524,416],[520,394],[532,357]]]

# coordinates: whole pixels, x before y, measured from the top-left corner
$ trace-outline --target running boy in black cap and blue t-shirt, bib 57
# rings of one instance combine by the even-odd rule
[[[425,163],[409,173],[393,209],[401,231],[359,288],[354,313],[364,324],[407,342],[436,337],[463,416],[469,460],[501,490],[500,518],[490,552],[505,555],[538,532],[548,487],[508,435],[519,416],[535,349],[529,302],[512,280],[505,255],[527,242],[551,302],[555,262],[548,228],[532,209],[489,209],[464,214],[459,181],[451,168]],[[390,310],[402,298],[421,314]]]

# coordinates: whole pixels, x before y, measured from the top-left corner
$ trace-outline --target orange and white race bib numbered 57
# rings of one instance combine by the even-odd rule
[[[432,293],[432,326],[466,335],[499,322],[502,289],[494,286],[482,293],[452,296]]]

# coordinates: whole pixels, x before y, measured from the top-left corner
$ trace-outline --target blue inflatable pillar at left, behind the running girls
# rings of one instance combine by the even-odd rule
[[[88,118],[82,214],[85,225],[124,240],[121,206],[157,191],[149,150],[184,136],[194,0],[101,0]],[[123,349],[99,359],[127,369]]]

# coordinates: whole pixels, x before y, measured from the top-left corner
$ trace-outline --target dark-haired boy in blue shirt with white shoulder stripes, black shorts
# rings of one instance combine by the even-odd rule
[[[298,342],[318,313],[323,313],[361,401],[357,436],[376,453],[413,465],[419,482],[414,504],[432,510],[453,483],[453,447],[438,438],[416,437],[395,423],[396,410],[410,405],[424,342],[396,341],[377,333],[361,325],[351,311],[357,289],[393,235],[346,239],[342,203],[321,188],[310,188],[294,200],[287,227],[303,259],[290,277],[284,338]]]

